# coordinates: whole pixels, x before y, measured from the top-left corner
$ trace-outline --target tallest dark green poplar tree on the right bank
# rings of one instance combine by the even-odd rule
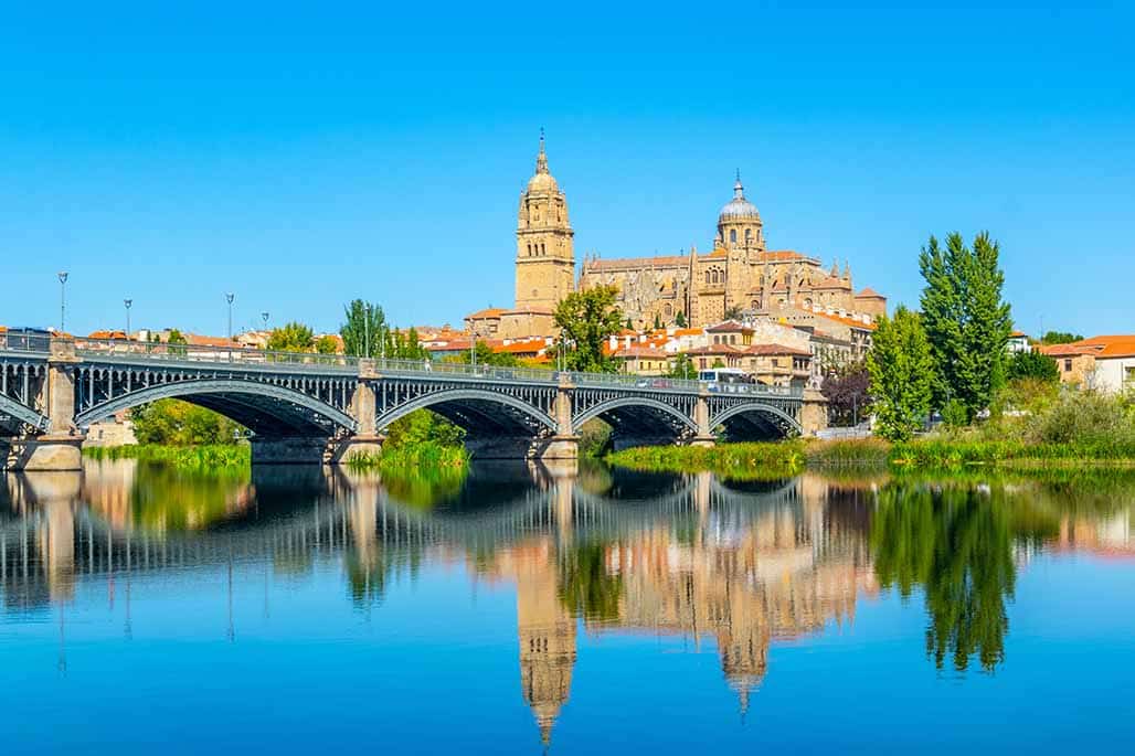
[[[922,320],[934,363],[932,403],[944,408],[956,400],[968,421],[1004,384],[1012,320],[1001,299],[999,254],[986,233],[977,235],[973,250],[953,233],[944,249],[931,236],[918,258],[926,280]]]

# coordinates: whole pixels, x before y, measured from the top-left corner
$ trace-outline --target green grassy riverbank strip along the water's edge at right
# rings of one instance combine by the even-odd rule
[[[878,438],[718,444],[712,447],[637,447],[606,461],[647,471],[762,477],[796,474],[805,468],[958,469],[967,467],[1135,468],[1135,445],[1117,443],[1026,444],[1023,442],[925,438],[891,444]]]

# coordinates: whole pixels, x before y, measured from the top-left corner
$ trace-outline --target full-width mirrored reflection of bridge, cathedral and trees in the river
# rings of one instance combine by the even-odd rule
[[[1123,476],[754,482],[495,465],[432,478],[318,468],[202,478],[120,460],[3,482],[9,613],[66,606],[85,583],[104,585],[111,603],[124,586],[128,603],[141,573],[222,565],[235,639],[234,563],[301,579],[337,563],[347,599],[367,611],[429,563],[511,586],[521,690],[545,742],[571,697],[579,633],[712,648],[743,716],[774,673],[771,648],[850,625],[881,591],[924,607],[935,667],[993,671],[1008,653],[1018,572],[1037,553],[1135,555],[1135,485]],[[60,625],[61,648],[64,638]]]

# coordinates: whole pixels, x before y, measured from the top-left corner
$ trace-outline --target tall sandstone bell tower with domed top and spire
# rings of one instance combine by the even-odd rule
[[[574,289],[575,251],[568,200],[548,173],[543,132],[536,174],[516,216],[516,310],[550,311]]]

